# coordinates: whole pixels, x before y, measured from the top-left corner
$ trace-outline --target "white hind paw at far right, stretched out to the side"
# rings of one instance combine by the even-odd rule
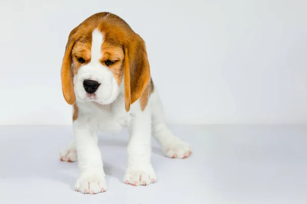
[[[162,151],[166,157],[185,159],[191,155],[191,146],[176,138],[162,145]]]

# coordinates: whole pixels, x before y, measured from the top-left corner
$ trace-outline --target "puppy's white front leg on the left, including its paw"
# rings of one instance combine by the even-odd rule
[[[99,193],[107,189],[103,163],[98,147],[97,129],[82,117],[74,121],[74,133],[80,177],[75,190],[82,193]]]

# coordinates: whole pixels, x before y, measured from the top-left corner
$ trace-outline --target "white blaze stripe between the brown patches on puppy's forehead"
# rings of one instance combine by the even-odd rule
[[[101,55],[101,45],[103,43],[103,34],[95,29],[92,33],[91,63],[99,63]]]

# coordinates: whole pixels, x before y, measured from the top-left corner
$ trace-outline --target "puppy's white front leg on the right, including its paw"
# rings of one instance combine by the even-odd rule
[[[134,113],[128,125],[129,143],[128,168],[125,172],[124,182],[134,186],[148,185],[157,180],[153,170],[151,156],[151,115],[150,107],[142,112]]]

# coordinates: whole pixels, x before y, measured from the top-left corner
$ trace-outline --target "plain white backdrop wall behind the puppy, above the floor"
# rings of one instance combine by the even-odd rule
[[[0,2],[0,124],[68,125],[70,31],[109,11],[146,42],[170,123],[307,123],[307,1]]]

